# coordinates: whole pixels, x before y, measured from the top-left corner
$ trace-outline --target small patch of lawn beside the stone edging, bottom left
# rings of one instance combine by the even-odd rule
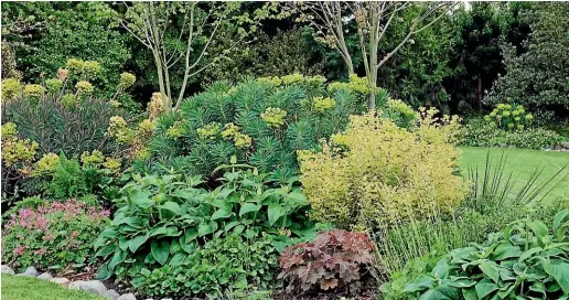
[[[2,274],[2,300],[105,300],[89,292],[69,290],[57,283]]]

